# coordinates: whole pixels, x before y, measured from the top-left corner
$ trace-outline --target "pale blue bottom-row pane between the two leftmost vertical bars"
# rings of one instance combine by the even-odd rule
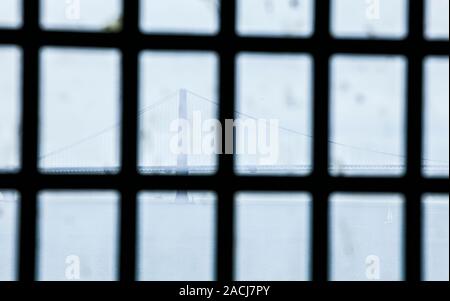
[[[117,274],[118,194],[39,194],[40,281],[112,281]]]

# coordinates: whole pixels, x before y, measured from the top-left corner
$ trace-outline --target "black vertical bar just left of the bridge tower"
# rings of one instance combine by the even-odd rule
[[[119,279],[132,282],[136,278],[137,201],[133,187],[137,177],[138,116],[138,48],[139,1],[123,1],[121,32],[122,131],[120,181],[120,252]]]

